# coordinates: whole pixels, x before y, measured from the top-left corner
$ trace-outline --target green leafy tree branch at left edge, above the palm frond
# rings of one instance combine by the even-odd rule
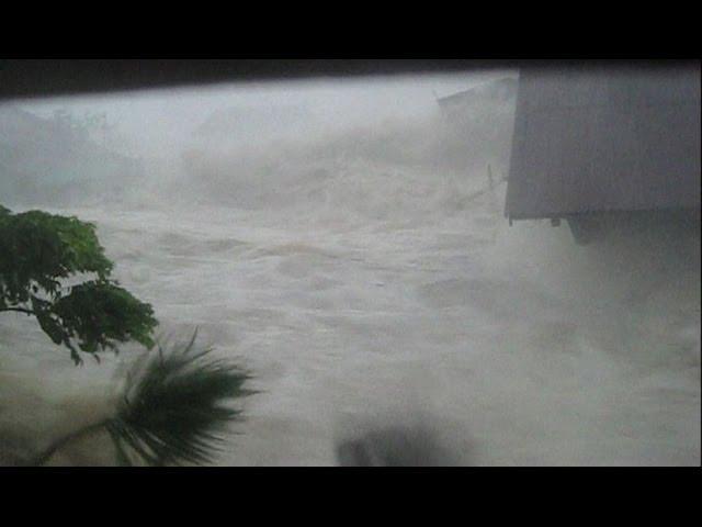
[[[111,280],[112,268],[92,223],[0,206],[0,312],[35,315],[76,363],[82,362],[79,349],[97,358],[100,350],[116,351],[117,343],[154,346],[158,322],[151,306]],[[81,274],[97,278],[64,285]]]

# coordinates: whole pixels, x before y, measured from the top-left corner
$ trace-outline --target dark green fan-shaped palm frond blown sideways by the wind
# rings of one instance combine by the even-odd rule
[[[147,351],[127,374],[116,416],[105,425],[121,464],[134,458],[149,466],[212,462],[233,422],[237,400],[256,393],[251,375],[212,348],[188,344]]]

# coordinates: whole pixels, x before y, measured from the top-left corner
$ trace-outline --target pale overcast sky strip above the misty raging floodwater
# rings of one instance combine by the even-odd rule
[[[512,75],[484,71],[460,76],[319,79],[123,92],[110,96],[22,101],[20,106],[50,116],[66,109],[77,116],[106,113],[136,153],[149,155],[182,147],[194,130],[216,110],[228,108],[302,106],[315,120],[332,125],[372,124],[388,116],[414,116],[437,111],[435,97]]]

